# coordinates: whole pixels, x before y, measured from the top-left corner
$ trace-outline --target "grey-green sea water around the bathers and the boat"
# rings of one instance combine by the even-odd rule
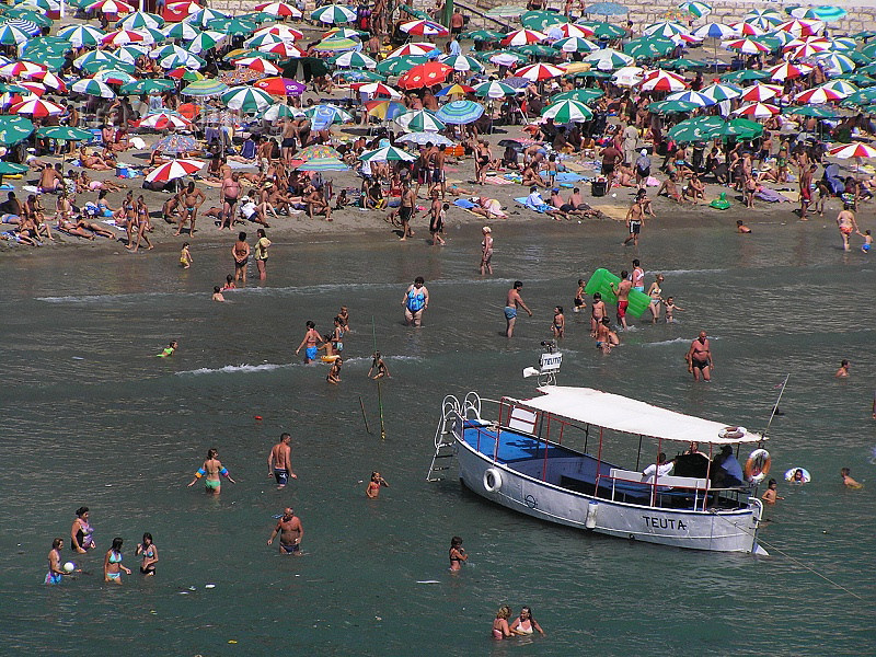
[[[844,254],[820,222],[768,220],[748,237],[666,222],[648,227],[637,252],[620,246],[616,226],[497,226],[493,279],[475,272],[476,227],[451,229],[440,250],[296,240],[273,247],[266,285],[230,292],[228,304],[209,293],[230,272],[230,244],[195,244],[187,272],[175,249],[7,258],[0,653],[873,654],[874,256]],[[568,312],[575,284],[635,256],[648,283],[666,275],[665,293],[685,310],[676,325],[636,325],[602,356],[586,316]],[[400,301],[417,275],[431,302],[412,331]],[[502,306],[516,278],[535,316],[508,342]],[[557,303],[567,308],[564,384],[761,429],[791,373],[768,445],[772,474],[800,465],[814,481],[780,484],[786,499],[761,532],[771,557],[595,537],[493,506],[452,475],[426,483],[443,395],[530,394],[520,371],[535,364]],[[307,320],[327,332],[341,304],[354,333],[335,388],[293,349]],[[385,440],[366,433],[359,408],[361,397],[377,434],[372,318],[392,371]],[[682,360],[701,328],[717,365],[708,385]],[[154,358],[171,338],[177,356]],[[852,377],[838,381],[841,358]],[[283,430],[299,480],[278,492],[265,461]],[[209,447],[239,482],[218,499],[185,487]],[[633,466],[630,447],[611,457]],[[844,465],[863,491],[843,489]],[[364,495],[371,470],[391,484],[378,500]],[[81,505],[97,554],[74,560],[87,574],[46,587],[51,539],[65,538],[70,558]],[[265,545],[286,505],[304,527],[300,558]],[[150,579],[134,556],[143,531],[161,557]],[[447,572],[453,534],[471,555],[458,575]],[[122,587],[101,576],[115,535],[135,570]],[[548,636],[489,639],[505,602],[531,606]]]

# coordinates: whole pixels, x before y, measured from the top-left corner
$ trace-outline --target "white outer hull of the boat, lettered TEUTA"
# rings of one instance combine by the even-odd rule
[[[464,440],[457,440],[457,445],[459,476],[465,486],[515,511],[647,543],[764,554],[756,540],[761,512],[757,500],[748,508],[714,512],[612,502],[521,474],[504,463],[494,462]]]

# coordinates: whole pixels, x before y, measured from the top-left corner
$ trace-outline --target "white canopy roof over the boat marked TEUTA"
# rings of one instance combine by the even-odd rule
[[[719,422],[683,415],[592,388],[542,385],[538,390],[544,393],[543,396],[523,400],[520,403],[535,411],[615,431],[661,440],[713,445],[764,440],[760,434],[748,431],[742,427],[729,427]]]

